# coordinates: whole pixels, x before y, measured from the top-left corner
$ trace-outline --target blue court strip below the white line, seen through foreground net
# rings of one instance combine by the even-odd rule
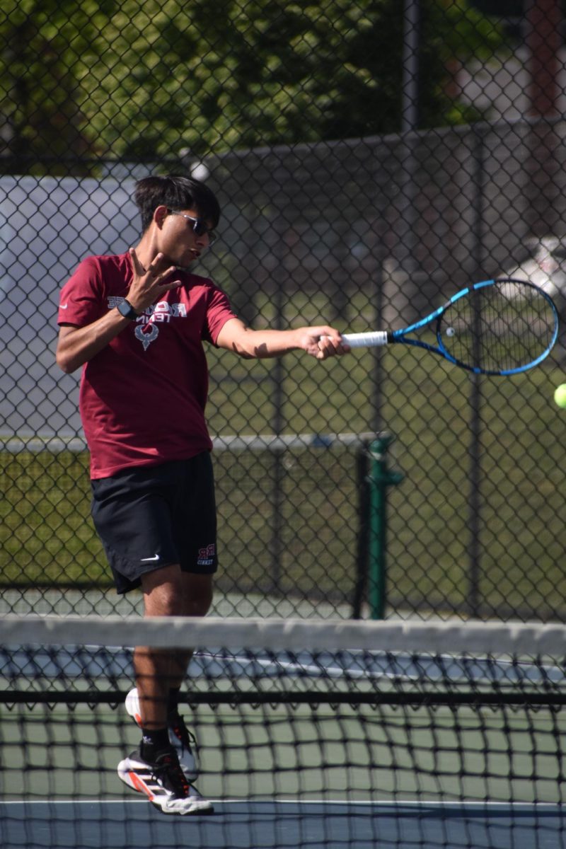
[[[3,849],[558,849],[559,806],[390,802],[216,801],[200,817],[167,817],[145,801],[38,801],[0,805]]]

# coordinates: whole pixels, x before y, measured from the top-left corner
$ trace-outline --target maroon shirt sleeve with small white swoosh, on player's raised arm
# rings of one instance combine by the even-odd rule
[[[94,257],[83,260],[64,284],[59,297],[58,324],[85,327],[104,315],[104,284]]]

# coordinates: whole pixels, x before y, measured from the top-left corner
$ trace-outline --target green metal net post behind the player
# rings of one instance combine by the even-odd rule
[[[370,531],[369,531],[369,587],[368,600],[372,619],[384,619],[387,599],[387,487],[401,483],[403,475],[388,469],[387,450],[394,440],[389,433],[379,434],[369,447],[371,467]]]

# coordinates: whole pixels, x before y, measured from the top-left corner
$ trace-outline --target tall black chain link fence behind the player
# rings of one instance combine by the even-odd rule
[[[401,327],[502,274],[566,318],[560,3],[45,0],[0,16],[0,610],[140,602],[111,588],[79,375],[54,365],[61,285],[139,237],[136,179],[216,192],[221,238],[197,271],[254,328]],[[566,614],[563,336],[505,379],[417,349],[207,356],[217,612],[372,616],[379,568],[387,616]]]

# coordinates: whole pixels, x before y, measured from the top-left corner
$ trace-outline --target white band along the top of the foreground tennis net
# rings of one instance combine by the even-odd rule
[[[352,649],[566,656],[566,626],[540,622],[354,621],[182,616],[24,616],[0,618],[0,644],[155,648],[221,646],[278,651]]]

